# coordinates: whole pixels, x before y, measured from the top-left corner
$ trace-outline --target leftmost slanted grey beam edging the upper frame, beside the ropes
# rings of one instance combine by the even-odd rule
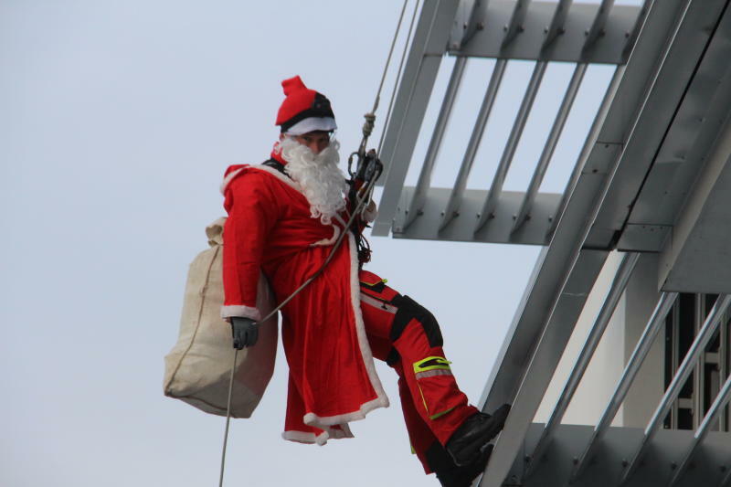
[[[391,228],[456,8],[457,3],[449,0],[426,0],[421,7],[381,151],[386,187],[373,225],[373,235],[386,236]]]

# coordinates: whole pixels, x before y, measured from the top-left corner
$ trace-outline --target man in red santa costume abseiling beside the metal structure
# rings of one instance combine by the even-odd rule
[[[260,271],[277,302],[332,260],[281,310],[290,366],[284,439],[323,445],[352,438],[348,423],[388,406],[374,357],[398,375],[408,436],[424,470],[442,485],[468,486],[488,460],[490,441],[509,407],[491,416],[468,404],[442,351],[434,316],[386,281],[362,269],[337,166],[339,145],[330,101],[300,77],[282,81],[280,140],[270,160],[228,168],[221,314],[234,346],[257,340]],[[370,202],[358,228],[376,217]],[[348,232],[342,244],[334,244]]]

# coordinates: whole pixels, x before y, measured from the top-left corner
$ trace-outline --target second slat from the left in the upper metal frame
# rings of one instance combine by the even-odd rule
[[[447,201],[447,206],[444,208],[442,215],[440,230],[445,228],[452,218],[457,216],[462,195],[464,194],[464,188],[467,186],[467,178],[470,176],[472,164],[474,163],[474,157],[477,154],[477,149],[480,147],[480,141],[482,140],[482,133],[485,130],[485,125],[490,119],[490,113],[493,111],[493,103],[497,92],[500,89],[500,84],[503,82],[503,74],[505,73],[505,67],[507,61],[505,59],[497,59],[493,68],[493,74],[490,77],[490,83],[487,85],[485,96],[482,99],[482,106],[477,114],[477,121],[472,128],[472,134],[470,136],[470,142],[467,143],[467,149],[465,150],[464,157],[462,158],[462,164],[460,165],[460,172],[457,175],[457,180],[454,182],[450,199]]]

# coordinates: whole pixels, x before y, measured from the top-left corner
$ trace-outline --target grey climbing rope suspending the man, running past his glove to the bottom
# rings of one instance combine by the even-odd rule
[[[416,6],[414,7],[414,15],[411,18],[411,26],[408,28],[408,37],[406,39],[405,45],[404,45],[404,52],[401,57],[401,61],[398,68],[398,74],[396,82],[394,83],[394,89],[391,93],[391,100],[388,104],[388,115],[390,115],[391,107],[393,106],[394,96],[396,93],[396,87],[398,79],[401,76],[401,69],[403,68],[404,64],[404,58],[406,58],[406,48],[408,46],[409,38],[411,37],[411,31],[414,26],[414,19],[416,18],[417,10],[418,10],[418,4],[419,0],[417,0]],[[386,60],[386,65],[384,66],[383,74],[381,76],[380,84],[378,85],[378,91],[376,92],[376,100],[373,103],[373,110],[369,111],[368,113],[365,113],[365,123],[363,125],[363,139],[361,140],[360,146],[358,148],[358,151],[351,154],[348,158],[348,173],[351,175],[351,178],[353,178],[353,184],[355,185],[355,174],[366,174],[367,177],[364,180],[364,185],[362,187],[357,188],[357,191],[355,192],[355,202],[354,203],[354,210],[351,212],[350,218],[347,221],[347,224],[345,225],[345,228],[343,232],[340,234],[338,239],[335,241],[333,249],[330,250],[330,253],[327,256],[327,259],[323,262],[323,265],[318,269],[307,281],[304,281],[302,283],[302,286],[297,288],[294,292],[291,293],[291,295],[281,302],[276,308],[274,308],[267,316],[265,316],[262,320],[260,320],[260,323],[265,322],[269,320],[276,312],[279,312],[281,308],[286,305],[288,302],[291,301],[292,298],[294,298],[300,291],[302,291],[305,287],[307,287],[308,284],[310,284],[312,281],[317,279],[322,273],[323,270],[327,267],[327,265],[330,263],[330,261],[333,259],[335,251],[340,247],[340,245],[343,243],[343,239],[345,235],[348,234],[349,229],[352,227],[353,223],[355,222],[355,218],[360,215],[363,210],[365,209],[365,205],[370,202],[371,195],[373,193],[373,189],[376,186],[376,179],[378,179],[378,176],[381,175],[381,171],[383,166],[379,165],[380,162],[378,161],[378,164],[372,164],[370,168],[364,168],[362,167],[363,164],[366,163],[366,161],[377,161],[377,153],[376,151],[371,151],[371,154],[365,154],[365,146],[368,142],[368,138],[370,137],[371,133],[373,133],[373,129],[376,124],[376,110],[378,109],[378,103],[380,101],[381,96],[381,90],[383,89],[384,81],[386,80],[386,75],[388,71],[388,66],[391,62],[391,56],[394,52],[394,47],[396,46],[396,41],[398,38],[398,33],[401,29],[401,23],[404,18],[404,13],[406,12],[406,7],[408,5],[408,0],[404,0],[404,5],[401,8],[401,14],[398,17],[398,24],[396,27],[396,32],[394,33],[394,37],[391,40],[391,48],[388,51],[388,58]],[[381,141],[378,145],[378,152],[380,152],[380,144],[383,143],[383,134],[381,135]],[[353,160],[354,155],[358,155],[358,167],[355,173],[351,171],[351,164]],[[238,357],[238,350],[234,349],[234,361],[231,365],[231,374],[228,381],[228,404],[226,407],[226,429],[224,431],[224,439],[223,439],[223,449],[221,451],[221,470],[218,478],[218,487],[223,487],[223,477],[224,477],[224,469],[226,466],[226,447],[228,444],[228,426],[231,420],[231,397],[233,394],[233,386],[234,386],[234,374],[236,371],[236,361]]]

